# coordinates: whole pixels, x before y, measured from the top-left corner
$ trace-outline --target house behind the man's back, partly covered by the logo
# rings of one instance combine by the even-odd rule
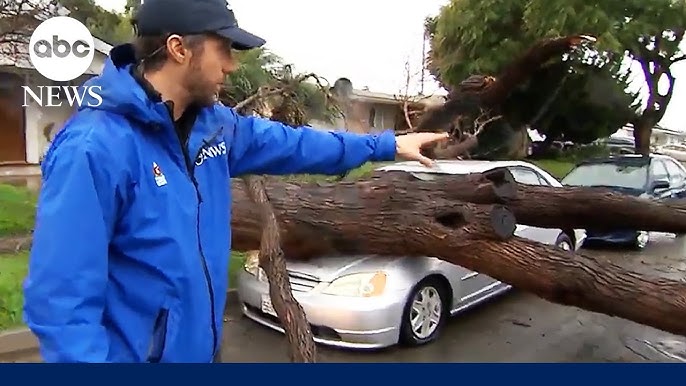
[[[70,82],[54,82],[39,74],[29,60],[28,42],[0,44],[0,165],[40,163],[44,149],[73,108],[66,99],[57,107],[41,107],[30,97],[25,101],[22,86],[33,90],[38,90],[37,86],[79,86],[99,74],[112,47],[94,40],[93,63],[84,75]]]

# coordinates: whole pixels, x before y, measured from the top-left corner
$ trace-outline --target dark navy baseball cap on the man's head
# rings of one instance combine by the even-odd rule
[[[231,40],[236,50],[265,43],[238,26],[226,0],[142,0],[133,24],[138,36],[215,33]]]

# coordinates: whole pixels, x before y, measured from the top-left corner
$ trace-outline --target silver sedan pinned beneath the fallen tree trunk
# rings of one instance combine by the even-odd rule
[[[507,167],[518,183],[562,186],[544,170],[523,161],[439,161],[435,168],[400,162],[378,170],[404,171],[419,179],[431,179],[437,174],[480,173],[496,167]],[[577,250],[586,237],[580,229],[523,225],[517,226],[516,234],[565,250]],[[255,253],[244,268],[238,276],[243,314],[283,332]],[[511,288],[433,257],[323,256],[307,262],[290,261],[288,273],[293,295],[305,310],[315,341],[357,349],[434,341],[448,317]]]

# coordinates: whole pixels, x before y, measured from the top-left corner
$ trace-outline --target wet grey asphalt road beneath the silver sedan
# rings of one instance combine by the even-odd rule
[[[683,279],[686,238],[655,235],[643,252],[584,250],[636,271]],[[229,310],[225,362],[288,362],[285,337]],[[686,362],[686,338],[513,291],[453,318],[420,348],[376,352],[319,346],[320,362]]]

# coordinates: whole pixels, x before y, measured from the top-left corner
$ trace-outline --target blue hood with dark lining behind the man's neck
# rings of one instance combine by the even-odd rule
[[[123,44],[112,48],[100,75],[84,83],[84,87],[99,87],[98,100],[86,93],[79,110],[96,109],[126,116],[146,124],[162,124],[168,119],[161,100],[153,100],[132,74],[135,64],[133,46]]]

